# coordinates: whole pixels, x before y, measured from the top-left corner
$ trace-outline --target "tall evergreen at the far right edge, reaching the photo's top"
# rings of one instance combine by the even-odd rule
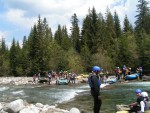
[[[145,57],[145,45],[147,38],[149,38],[150,34],[150,10],[148,7],[148,2],[146,0],[138,0],[137,4],[137,15],[135,16],[137,20],[135,21],[135,31],[136,31],[136,40],[138,44],[138,52],[139,52],[139,65],[144,66],[145,62],[149,59]],[[146,47],[147,48],[147,47]],[[144,66],[144,68],[146,68]]]

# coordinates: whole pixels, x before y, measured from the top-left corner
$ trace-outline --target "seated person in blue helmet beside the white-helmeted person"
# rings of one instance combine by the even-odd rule
[[[144,113],[145,103],[144,103],[144,98],[141,95],[142,90],[141,89],[136,89],[135,93],[136,93],[136,96],[137,96],[137,100],[136,100],[136,102],[129,104],[129,106],[131,108],[129,113],[132,113],[132,112]]]

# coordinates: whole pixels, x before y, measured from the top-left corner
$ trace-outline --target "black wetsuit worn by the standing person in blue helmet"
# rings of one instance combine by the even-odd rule
[[[94,113],[99,113],[100,107],[101,107],[101,99],[98,99],[98,96],[100,96],[100,85],[98,84],[99,77],[97,75],[92,76],[92,83],[93,87],[91,88],[91,94],[94,99]]]

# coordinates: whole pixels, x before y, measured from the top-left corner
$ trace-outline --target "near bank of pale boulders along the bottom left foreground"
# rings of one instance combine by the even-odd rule
[[[80,113],[79,109],[71,108],[69,111],[56,108],[57,105],[49,106],[42,103],[29,104],[18,99],[10,103],[0,103],[0,113]]]

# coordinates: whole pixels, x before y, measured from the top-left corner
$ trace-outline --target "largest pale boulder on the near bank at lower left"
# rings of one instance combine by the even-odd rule
[[[25,107],[22,99],[18,99],[13,102],[10,102],[6,106],[8,108],[7,111],[12,113],[19,112],[21,109]]]

